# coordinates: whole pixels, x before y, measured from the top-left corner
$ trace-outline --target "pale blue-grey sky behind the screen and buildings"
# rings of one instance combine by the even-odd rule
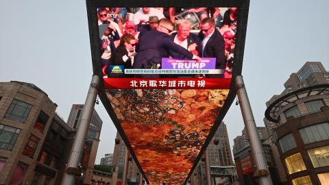
[[[291,73],[307,61],[329,70],[329,1],[250,0],[243,77],[258,126],[265,102],[280,94]],[[67,120],[73,103],[84,103],[92,75],[85,1],[0,0],[0,82],[33,83],[58,104]],[[96,163],[114,149],[115,129],[101,103],[103,119]],[[239,106],[224,119],[233,145],[241,135]]]

